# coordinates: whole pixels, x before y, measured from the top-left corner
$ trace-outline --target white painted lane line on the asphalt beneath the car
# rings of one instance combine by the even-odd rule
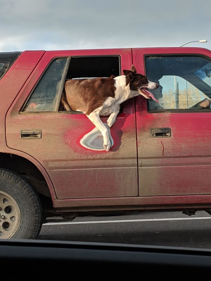
[[[143,220],[98,220],[98,221],[68,221],[58,223],[43,223],[43,225],[57,224],[85,224],[85,223],[131,223],[136,221],[160,221],[160,220],[209,220],[211,217],[177,217],[169,219],[143,219]]]

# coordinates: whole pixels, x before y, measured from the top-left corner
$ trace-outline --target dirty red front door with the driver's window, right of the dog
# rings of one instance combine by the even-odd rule
[[[133,49],[137,71],[160,85],[159,104],[137,98],[140,196],[211,193],[210,57],[201,48]]]

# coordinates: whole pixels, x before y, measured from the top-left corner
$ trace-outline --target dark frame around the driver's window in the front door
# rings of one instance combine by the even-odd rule
[[[144,54],[143,60],[144,60],[144,71],[145,75],[147,77],[147,69],[146,69],[146,58],[147,57],[198,57],[198,58],[205,58],[211,63],[211,58],[206,55],[201,54],[191,54],[191,53],[171,53],[171,54]],[[182,78],[182,77],[181,77]],[[148,113],[206,113],[211,112],[211,108],[203,108],[203,109],[194,109],[194,108],[183,108],[183,109],[150,109],[149,108],[149,100],[146,101],[147,104],[147,112]]]

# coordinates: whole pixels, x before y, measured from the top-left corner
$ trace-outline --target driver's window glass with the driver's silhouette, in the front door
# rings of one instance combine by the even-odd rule
[[[149,109],[209,109],[211,63],[200,57],[166,56],[146,58],[147,76],[159,83],[151,90],[159,104],[149,100]]]

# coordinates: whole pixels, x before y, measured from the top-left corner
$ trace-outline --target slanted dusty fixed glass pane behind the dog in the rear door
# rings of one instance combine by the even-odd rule
[[[34,89],[23,111],[55,111],[67,58],[55,59]]]

